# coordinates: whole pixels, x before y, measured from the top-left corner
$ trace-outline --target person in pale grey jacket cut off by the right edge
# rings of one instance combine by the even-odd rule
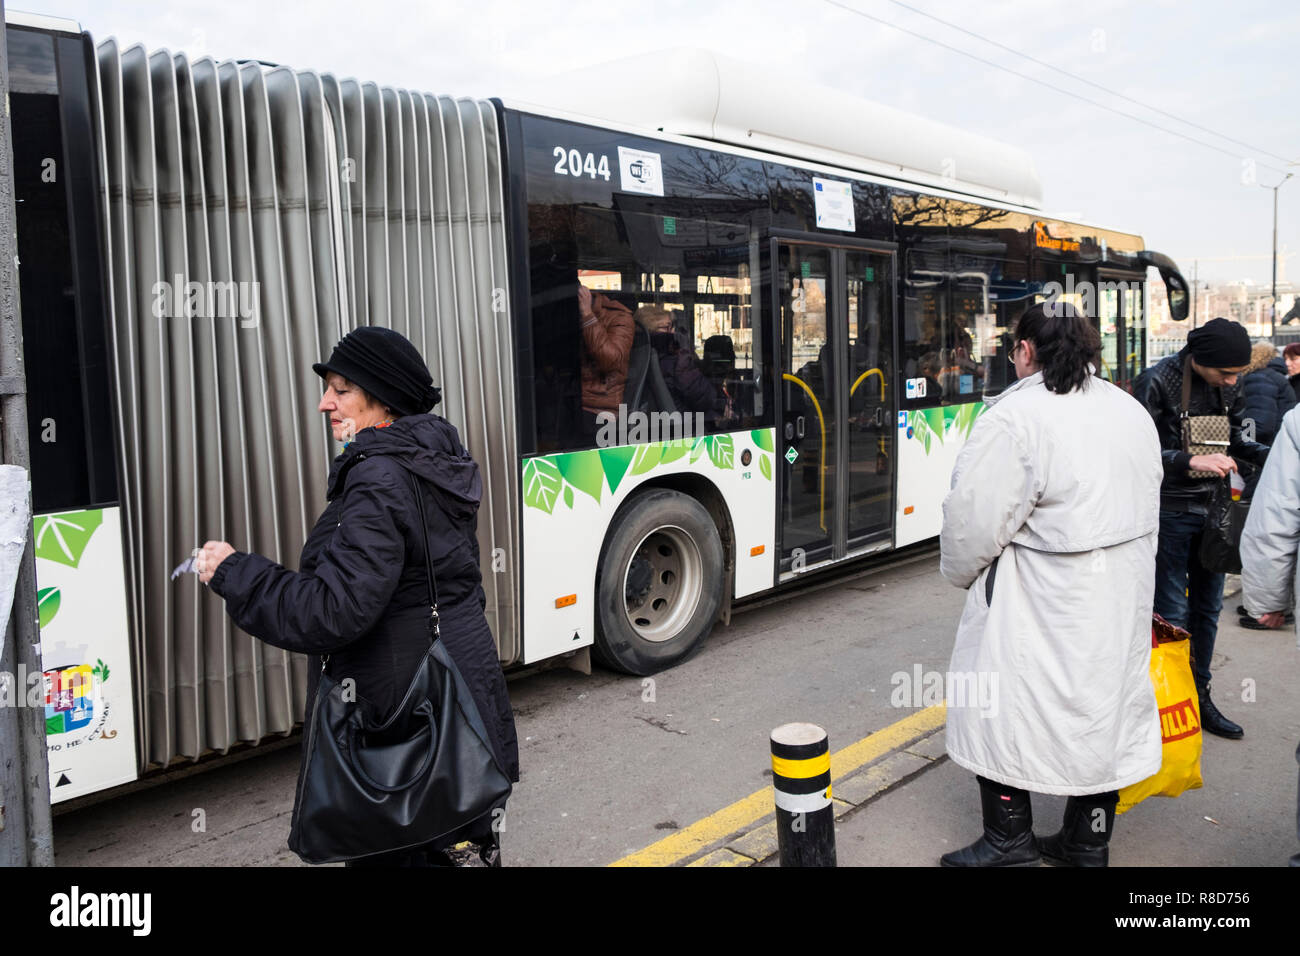
[[[1282,627],[1295,607],[1296,553],[1300,550],[1300,412],[1288,411],[1264,466],[1242,531],[1242,600],[1261,627]],[[1300,641],[1300,626],[1296,627]],[[1296,748],[1300,761],[1300,747]],[[1296,786],[1296,838],[1300,839],[1300,778]],[[1300,866],[1300,853],[1291,857]]]

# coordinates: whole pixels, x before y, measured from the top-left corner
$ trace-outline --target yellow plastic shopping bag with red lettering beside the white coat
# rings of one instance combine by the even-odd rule
[[[1149,796],[1178,796],[1201,786],[1201,710],[1192,680],[1191,635],[1158,614],[1150,626],[1150,683],[1160,708],[1164,758],[1160,770],[1119,791],[1115,813]]]

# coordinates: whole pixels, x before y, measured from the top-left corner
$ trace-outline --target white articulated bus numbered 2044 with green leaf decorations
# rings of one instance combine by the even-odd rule
[[[22,14],[8,44],[56,801],[300,722],[303,658],[169,572],[208,538],[295,567],[338,451],[311,364],[348,329],[420,347],[480,463],[503,665],[649,674],[734,601],[933,538],[1027,306],[1096,315],[1121,385],[1148,267],[1186,315],[1024,153],[706,53],[542,108]],[[650,316],[612,381],[588,298]]]

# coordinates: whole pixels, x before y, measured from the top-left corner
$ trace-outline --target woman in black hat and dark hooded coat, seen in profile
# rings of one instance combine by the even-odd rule
[[[347,444],[330,466],[328,505],[303,545],[299,570],[208,541],[196,558],[200,580],[225,598],[226,611],[244,631],[313,656],[308,714],[320,656],[328,656],[330,675],[355,680],[358,698],[387,715],[429,649],[428,541],[441,639],[473,695],[498,765],[517,780],[515,718],[484,615],[474,537],[482,497],[478,466],[456,429],[428,414],[438,389],[419,351],[399,333],[356,329],[339,341],[329,362],[313,368],[326,381],[320,411],[329,415],[334,438]],[[424,497],[428,528],[420,527],[415,488]],[[481,821],[437,845],[359,862],[445,865],[448,858],[441,851],[462,839],[478,843],[485,860],[494,861],[493,822]]]

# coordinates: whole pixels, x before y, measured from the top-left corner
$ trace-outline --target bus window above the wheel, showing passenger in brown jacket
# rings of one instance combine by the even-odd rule
[[[529,222],[538,451],[598,445],[611,437],[603,412],[620,444],[633,412],[682,434],[759,425],[757,233],[589,206],[549,206]]]

